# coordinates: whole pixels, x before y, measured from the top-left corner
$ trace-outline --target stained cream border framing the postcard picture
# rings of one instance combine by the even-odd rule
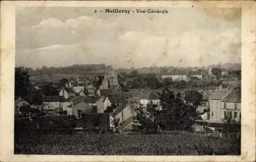
[[[13,155],[15,7],[191,7],[242,8],[242,155],[241,156],[89,156]],[[254,161],[256,5],[253,1],[2,1],[0,64],[0,160],[3,161]]]

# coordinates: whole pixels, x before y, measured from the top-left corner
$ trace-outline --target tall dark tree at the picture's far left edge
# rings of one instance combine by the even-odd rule
[[[15,76],[14,76],[14,95],[25,97],[28,95],[27,88],[29,87],[29,77],[28,70],[24,69],[24,67],[15,68]]]

